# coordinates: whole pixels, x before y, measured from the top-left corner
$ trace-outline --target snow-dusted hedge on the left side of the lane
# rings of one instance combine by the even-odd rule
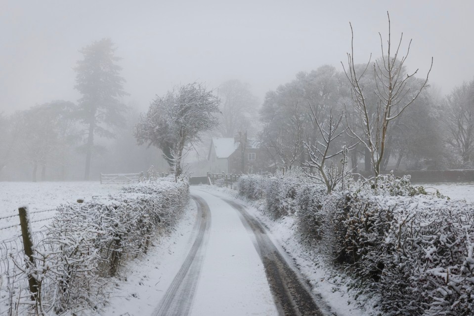
[[[189,201],[189,185],[164,179],[125,187],[107,200],[64,205],[37,247],[41,308],[56,313],[103,301],[103,285],[130,256],[172,228]]]

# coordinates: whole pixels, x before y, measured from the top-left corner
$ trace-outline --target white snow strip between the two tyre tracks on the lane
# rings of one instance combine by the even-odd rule
[[[212,220],[190,315],[278,315],[253,233],[222,199],[195,187],[191,193],[206,200]]]

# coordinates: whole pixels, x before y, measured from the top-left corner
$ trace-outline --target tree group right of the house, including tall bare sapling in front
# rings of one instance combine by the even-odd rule
[[[442,97],[428,85],[431,68],[425,78],[408,73],[409,45],[401,57],[390,37],[381,44],[375,61],[355,63],[350,52],[342,71],[324,65],[267,92],[259,140],[275,165],[323,170],[324,155],[338,152],[339,161],[351,147],[349,165],[375,175],[473,167],[474,80]],[[338,137],[325,152],[330,134]]]

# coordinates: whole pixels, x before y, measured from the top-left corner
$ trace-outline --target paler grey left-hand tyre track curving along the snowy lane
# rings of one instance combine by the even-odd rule
[[[211,212],[203,198],[191,195],[198,207],[196,240],[191,246],[184,263],[174,277],[170,287],[163,296],[160,305],[152,316],[185,316],[191,310],[194,293],[204,259],[204,244],[211,226]]]

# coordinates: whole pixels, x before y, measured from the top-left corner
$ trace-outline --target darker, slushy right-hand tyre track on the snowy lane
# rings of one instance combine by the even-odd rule
[[[242,205],[226,198],[222,199],[239,211],[242,223],[255,235],[254,245],[265,268],[265,274],[279,314],[281,316],[324,315],[314,302],[308,285],[290,268],[285,258],[266,235],[266,231],[259,221],[247,213]],[[332,314],[327,309],[325,312]]]

